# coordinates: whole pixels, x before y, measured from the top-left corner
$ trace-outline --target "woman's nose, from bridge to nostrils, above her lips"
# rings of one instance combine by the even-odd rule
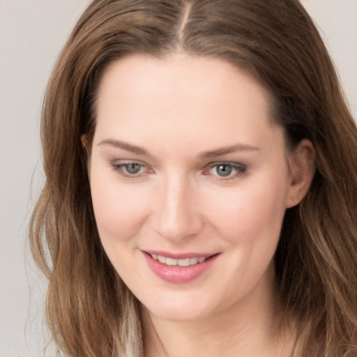
[[[197,188],[182,174],[171,174],[162,181],[154,200],[153,230],[162,238],[176,242],[195,236],[204,226]]]

